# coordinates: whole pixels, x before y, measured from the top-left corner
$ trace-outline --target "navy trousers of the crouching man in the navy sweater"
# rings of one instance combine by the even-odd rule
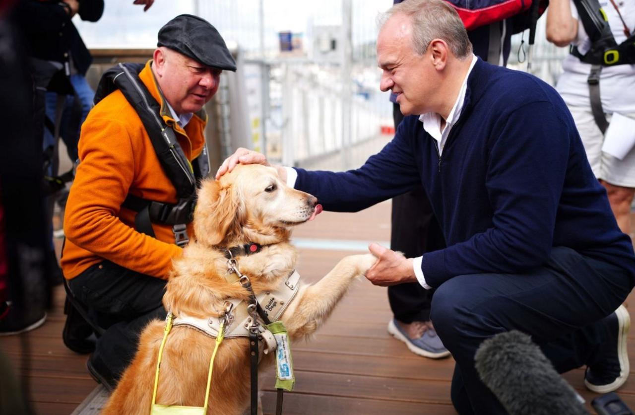
[[[593,364],[608,336],[599,320],[622,304],[633,287],[624,269],[555,247],[545,266],[521,274],[461,275],[441,284],[432,321],[456,367],[451,398],[462,414],[505,414],[479,378],[474,354],[495,334],[530,334],[562,373]]]

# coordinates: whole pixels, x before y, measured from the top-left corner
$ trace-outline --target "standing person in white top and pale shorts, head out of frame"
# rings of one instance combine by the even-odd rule
[[[594,25],[593,17],[603,27]],[[547,9],[547,39],[557,46],[572,46],[556,89],[575,119],[617,224],[627,235],[632,232],[635,195],[634,35],[632,0],[551,0]],[[620,49],[620,44],[631,46]]]

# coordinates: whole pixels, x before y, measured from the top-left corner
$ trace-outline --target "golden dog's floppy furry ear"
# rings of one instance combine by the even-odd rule
[[[203,180],[194,210],[194,233],[205,245],[218,245],[239,229],[241,202],[232,186]]]

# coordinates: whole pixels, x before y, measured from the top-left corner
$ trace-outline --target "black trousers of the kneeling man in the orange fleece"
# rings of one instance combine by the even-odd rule
[[[137,352],[141,330],[154,318],[163,320],[166,281],[110,261],[95,264],[69,280],[74,297],[90,318],[106,330],[97,339],[91,360],[119,378]]]

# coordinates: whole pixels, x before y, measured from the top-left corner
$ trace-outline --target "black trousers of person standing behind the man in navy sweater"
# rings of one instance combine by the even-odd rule
[[[392,118],[397,128],[403,114],[399,104],[392,105]],[[441,227],[421,186],[392,198],[391,222],[391,249],[408,258],[445,248]],[[426,290],[415,282],[388,287],[392,314],[404,323],[430,320],[432,293],[433,290]]]

